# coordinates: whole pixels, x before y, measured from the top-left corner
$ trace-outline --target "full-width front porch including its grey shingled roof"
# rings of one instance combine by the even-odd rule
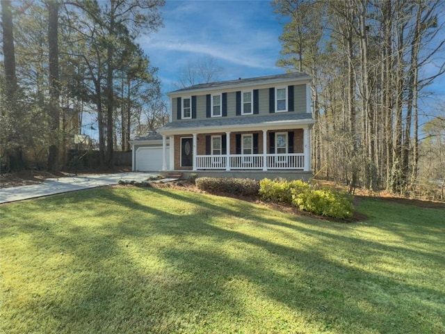
[[[159,129],[162,171],[310,172],[313,124],[309,113],[170,122]]]

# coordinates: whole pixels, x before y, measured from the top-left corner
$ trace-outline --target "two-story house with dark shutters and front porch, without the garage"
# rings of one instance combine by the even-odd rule
[[[162,173],[309,177],[311,80],[298,72],[169,93],[170,122],[158,131]]]

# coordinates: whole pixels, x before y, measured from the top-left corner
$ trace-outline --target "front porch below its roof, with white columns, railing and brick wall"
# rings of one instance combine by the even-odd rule
[[[162,170],[301,170],[310,171],[310,129],[250,129],[170,135],[167,166],[163,135]]]

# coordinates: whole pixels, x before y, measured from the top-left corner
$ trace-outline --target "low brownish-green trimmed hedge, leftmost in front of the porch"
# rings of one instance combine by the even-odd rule
[[[259,182],[252,179],[237,179],[232,177],[198,177],[195,181],[197,189],[210,193],[223,191],[234,195],[257,195]]]

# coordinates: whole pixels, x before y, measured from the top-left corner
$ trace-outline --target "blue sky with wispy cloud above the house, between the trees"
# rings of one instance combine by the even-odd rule
[[[275,66],[282,24],[269,0],[167,0],[161,12],[164,27],[140,38],[140,45],[159,67],[165,92],[175,90],[188,62],[203,56],[223,67],[220,80],[284,73]]]

